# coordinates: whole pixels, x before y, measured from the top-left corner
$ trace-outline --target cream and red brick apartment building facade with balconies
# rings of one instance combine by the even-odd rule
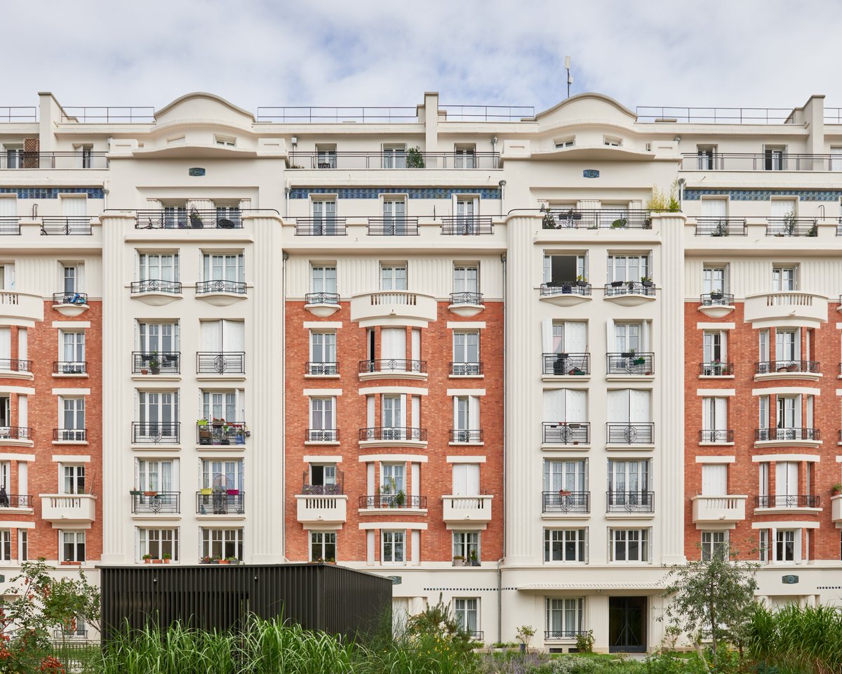
[[[547,650],[657,647],[663,566],[724,545],[836,601],[820,97],[6,112],[4,562],[336,561]]]

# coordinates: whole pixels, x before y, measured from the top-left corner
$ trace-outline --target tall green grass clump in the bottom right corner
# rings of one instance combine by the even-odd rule
[[[770,610],[758,604],[749,630],[757,661],[809,674],[842,672],[842,608],[794,605]]]

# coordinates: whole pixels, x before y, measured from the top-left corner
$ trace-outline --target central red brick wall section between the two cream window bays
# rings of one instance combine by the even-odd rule
[[[343,327],[337,330],[337,360],[339,378],[305,378],[306,361],[309,354],[309,329],[304,322],[324,320],[341,321]],[[453,353],[453,330],[447,329],[448,322],[484,321],[480,329],[480,358],[484,378],[451,379],[450,361]],[[482,531],[482,559],[497,560],[503,554],[503,304],[488,302],[485,310],[473,318],[461,318],[447,309],[447,303],[440,303],[438,319],[421,331],[421,360],[427,361],[428,377],[422,380],[367,379],[360,381],[359,362],[366,359],[366,329],[350,320],[349,302],[332,316],[316,318],[306,311],[303,302],[289,302],[286,305],[286,479],[290,489],[286,495],[286,556],[293,561],[308,559],[308,534],[297,520],[296,494],[301,493],[302,474],[306,470],[305,455],[341,454],[343,463],[338,468],[344,472],[344,493],[348,495],[348,519],[337,533],[337,554],[339,561],[365,561],[366,532],[360,530],[360,522],[376,520],[396,522],[424,522],[426,531],[421,532],[422,561],[450,561],[452,556],[451,532],[442,519],[441,495],[452,490],[452,464],[446,462],[448,455],[486,456],[486,463],[480,466],[480,486],[483,492],[494,495],[492,500],[492,522]],[[409,345],[407,340],[408,353]],[[380,340],[377,335],[379,350]],[[408,356],[411,357],[411,356]],[[427,388],[429,394],[421,396],[421,424],[427,430],[426,448],[363,447],[360,449],[358,434],[367,426],[365,396],[360,388],[377,386],[401,386]],[[336,446],[306,446],[304,440],[309,425],[308,399],[301,394],[305,388],[341,388],[337,398],[337,428],[340,444]],[[480,425],[484,447],[451,447],[450,429],[453,427],[453,402],[447,396],[448,388],[484,388],[485,396],[480,401]],[[376,424],[380,420],[380,401],[377,396]],[[408,405],[409,407],[409,405]],[[408,423],[411,410],[408,411]],[[428,457],[428,463],[421,464],[420,494],[427,497],[426,516],[392,515],[362,516],[359,514],[359,497],[366,495],[366,464],[360,463],[360,454],[418,454]],[[379,468],[377,468],[379,471]],[[411,475],[407,469],[408,484]],[[379,482],[379,473],[377,473]],[[378,532],[379,536],[379,532]],[[406,539],[406,555],[410,555],[410,537]],[[376,556],[379,558],[379,542]]]

